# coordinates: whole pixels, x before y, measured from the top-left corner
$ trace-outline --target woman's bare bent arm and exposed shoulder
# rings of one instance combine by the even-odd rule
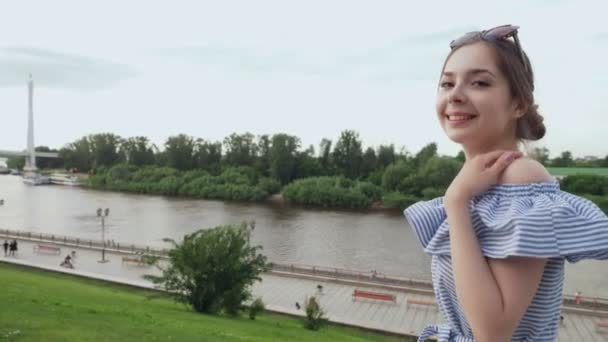
[[[487,162],[484,164],[484,168],[487,167]],[[540,168],[544,171],[542,166]],[[477,177],[470,169],[468,181],[473,182]],[[546,171],[540,172],[533,161],[525,159],[512,162],[508,157],[502,157],[495,160],[487,170],[497,172],[500,182],[503,183],[548,179]],[[460,185],[466,185],[466,176],[455,182],[455,187],[450,186],[451,189],[446,193],[444,205],[450,226],[452,268],[459,303],[476,341],[510,341],[536,293],[546,260],[484,257],[473,229],[468,206],[472,194],[481,190],[459,191],[467,189],[466,186],[458,184],[460,182]]]

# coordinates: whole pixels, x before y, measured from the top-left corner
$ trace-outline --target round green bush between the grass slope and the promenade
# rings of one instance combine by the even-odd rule
[[[249,245],[246,224],[201,229],[173,243],[162,276],[146,275],[195,311],[236,315],[251,298],[250,286],[269,269],[261,246]]]

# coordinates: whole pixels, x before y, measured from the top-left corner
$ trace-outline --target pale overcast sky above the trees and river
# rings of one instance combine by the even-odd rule
[[[435,114],[449,42],[519,25],[547,134],[530,147],[608,155],[605,1],[15,1],[0,10],[0,150],[88,134],[340,132],[455,155]]]

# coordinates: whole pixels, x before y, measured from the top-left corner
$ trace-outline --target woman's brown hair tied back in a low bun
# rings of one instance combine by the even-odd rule
[[[515,136],[521,140],[541,139],[545,136],[545,125],[542,115],[538,113],[538,105],[534,103],[534,73],[528,55],[523,51],[520,54],[513,41],[508,39],[486,40],[478,35],[455,47],[448,54],[443,67],[445,68],[447,61],[460,47],[478,42],[492,47],[498,69],[505,75],[509,83],[511,95],[519,102],[519,106],[526,110],[524,115],[517,119]],[[522,56],[524,56],[525,65]]]

